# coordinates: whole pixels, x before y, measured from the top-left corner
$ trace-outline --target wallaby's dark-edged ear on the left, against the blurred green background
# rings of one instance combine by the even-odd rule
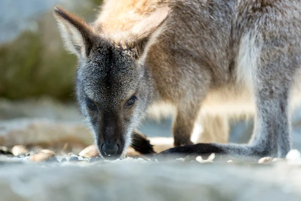
[[[59,6],[54,9],[54,17],[58,22],[66,50],[76,54],[79,59],[87,58],[92,48],[94,29],[84,20]]]

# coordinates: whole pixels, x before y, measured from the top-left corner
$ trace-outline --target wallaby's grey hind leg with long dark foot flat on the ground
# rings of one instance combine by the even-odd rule
[[[299,67],[297,57],[288,58],[275,47],[264,49],[259,61],[252,67],[252,88],[256,104],[253,136],[248,145],[199,143],[175,147],[156,155],[228,155],[240,158],[265,156],[285,157],[291,149],[289,121],[289,97],[294,73]],[[270,58],[275,54],[274,58]]]

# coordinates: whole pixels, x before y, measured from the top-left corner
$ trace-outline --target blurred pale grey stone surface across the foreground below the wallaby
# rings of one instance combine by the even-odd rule
[[[296,150],[285,160],[222,164],[214,155],[170,162],[130,157],[107,161],[72,154],[37,162],[33,156],[1,155],[1,200],[301,199],[301,157]]]

